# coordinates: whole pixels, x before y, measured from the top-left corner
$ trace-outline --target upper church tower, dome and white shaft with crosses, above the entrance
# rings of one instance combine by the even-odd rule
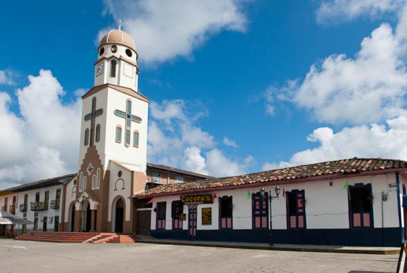
[[[121,23],[100,41],[94,63],[95,86],[82,96],[81,189],[89,189],[90,181],[94,184],[93,170],[99,168],[96,180],[100,180],[111,161],[146,173],[149,99],[138,93],[137,58],[135,43],[121,30]],[[92,188],[100,187],[96,184]]]

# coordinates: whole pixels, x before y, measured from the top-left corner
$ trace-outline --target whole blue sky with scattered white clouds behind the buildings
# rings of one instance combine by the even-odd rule
[[[226,176],[353,156],[407,159],[404,1],[147,3],[3,4],[0,124],[9,129],[0,152],[19,154],[0,162],[0,188],[76,171],[79,128],[61,125],[44,142],[34,119],[79,122],[98,39],[119,18],[138,48],[139,91],[153,101],[149,161]],[[60,105],[44,106],[41,92]],[[24,102],[31,95],[37,103]],[[27,137],[25,152],[10,140]]]

